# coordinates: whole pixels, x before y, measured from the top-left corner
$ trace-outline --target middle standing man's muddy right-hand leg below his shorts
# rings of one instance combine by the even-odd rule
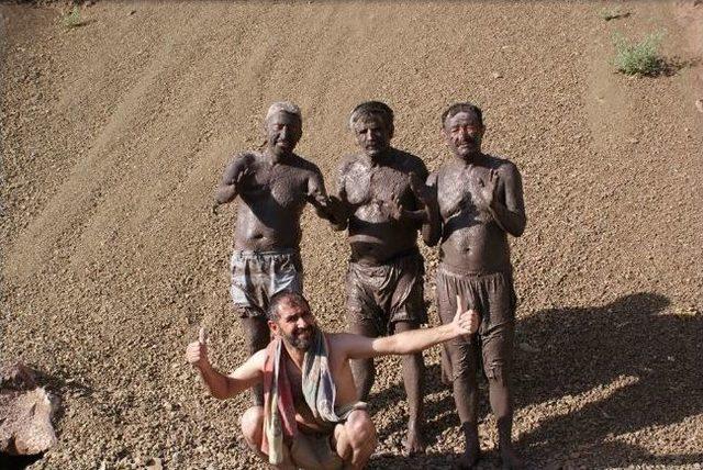
[[[408,322],[395,323],[394,333],[416,329],[417,325]],[[405,355],[402,358],[403,384],[408,394],[408,437],[405,452],[419,454],[425,451],[424,436],[424,405],[423,395],[425,389],[425,361],[422,352]]]

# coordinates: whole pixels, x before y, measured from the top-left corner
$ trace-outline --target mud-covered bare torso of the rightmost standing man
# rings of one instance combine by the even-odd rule
[[[511,269],[505,231],[478,203],[482,182],[488,181],[491,169],[500,175],[505,164],[484,156],[469,165],[453,160],[437,171],[437,202],[443,222],[440,257],[446,265],[476,273]],[[502,194],[499,184],[499,200]]]

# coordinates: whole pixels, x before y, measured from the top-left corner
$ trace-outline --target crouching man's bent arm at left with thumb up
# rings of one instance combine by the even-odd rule
[[[200,372],[200,377],[210,390],[210,394],[219,400],[232,398],[260,382],[264,377],[266,351],[260,350],[248,358],[230,376],[219,372],[208,360],[208,345],[203,328],[200,338],[188,345],[186,359]]]

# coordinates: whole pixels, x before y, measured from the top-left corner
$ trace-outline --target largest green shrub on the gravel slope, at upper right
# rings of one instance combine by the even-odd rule
[[[665,63],[659,55],[659,46],[663,38],[662,32],[651,33],[644,40],[636,43],[627,40],[622,34],[616,34],[615,43],[615,67],[617,71],[625,75],[659,75],[665,67]]]

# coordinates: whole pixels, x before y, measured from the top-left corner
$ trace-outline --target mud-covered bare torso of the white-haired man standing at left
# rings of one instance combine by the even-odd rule
[[[237,191],[235,247],[272,250],[298,248],[300,217],[309,195],[309,180],[316,167],[293,155],[271,165],[259,154],[246,156]]]

